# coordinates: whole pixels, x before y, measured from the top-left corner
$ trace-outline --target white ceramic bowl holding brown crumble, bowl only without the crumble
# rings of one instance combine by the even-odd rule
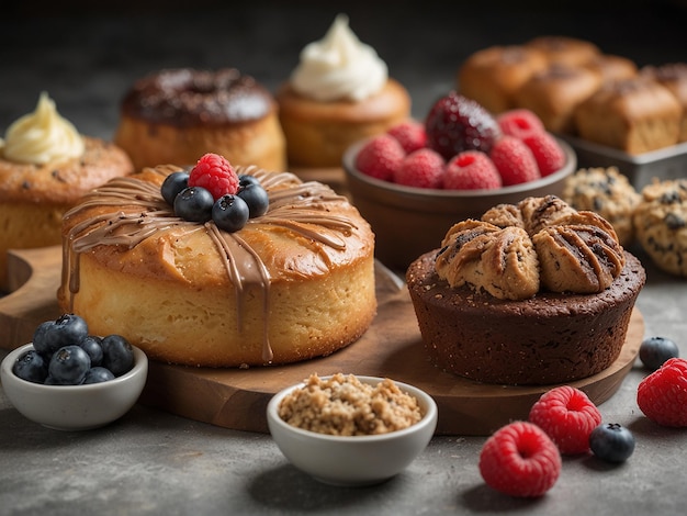
[[[375,377],[356,377],[376,385]],[[267,422],[279,449],[301,471],[333,485],[371,485],[401,473],[427,447],[437,427],[437,404],[424,391],[402,382],[398,388],[415,396],[423,418],[402,430],[374,436],[330,436],[296,428],[278,413],[281,401],[303,383],[277,393],[268,403]]]

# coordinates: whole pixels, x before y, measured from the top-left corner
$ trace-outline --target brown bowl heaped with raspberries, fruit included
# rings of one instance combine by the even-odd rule
[[[531,111],[493,115],[455,91],[424,121],[358,142],[344,156],[347,187],[376,235],[376,256],[405,270],[457,222],[502,203],[561,195],[573,149]]]

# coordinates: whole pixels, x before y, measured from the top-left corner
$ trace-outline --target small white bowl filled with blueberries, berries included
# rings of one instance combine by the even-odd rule
[[[137,402],[148,359],[120,335],[92,336],[83,318],[65,314],[42,323],[32,344],[2,360],[10,403],[26,418],[58,430],[105,426]]]

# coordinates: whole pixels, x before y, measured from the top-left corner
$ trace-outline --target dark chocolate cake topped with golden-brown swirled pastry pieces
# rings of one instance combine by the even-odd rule
[[[549,195],[455,224],[406,279],[437,367],[544,385],[612,364],[645,272],[607,221]]]

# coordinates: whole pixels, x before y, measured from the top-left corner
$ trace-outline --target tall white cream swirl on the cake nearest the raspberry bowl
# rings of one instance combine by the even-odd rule
[[[303,48],[291,85],[300,94],[322,102],[361,101],[379,92],[387,76],[386,64],[353,34],[348,16],[339,14],[322,41]]]

